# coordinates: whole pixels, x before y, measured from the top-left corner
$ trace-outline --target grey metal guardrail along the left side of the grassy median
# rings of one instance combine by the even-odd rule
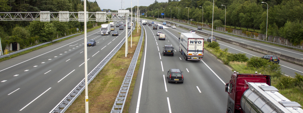
[[[136,23],[134,22],[132,31],[135,30],[135,26]],[[130,34],[131,32],[128,33],[128,36],[130,36]],[[96,77],[96,75],[102,70],[108,61],[118,52],[118,50],[125,43],[125,39],[126,37],[87,75],[88,84]],[[81,80],[81,82],[74,89],[72,89],[72,91],[68,93],[49,113],[64,113],[84,89],[85,78],[83,78],[83,80]]]

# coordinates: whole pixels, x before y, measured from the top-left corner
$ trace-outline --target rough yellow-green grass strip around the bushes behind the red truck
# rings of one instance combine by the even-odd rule
[[[210,52],[211,54],[215,55],[217,58],[225,62],[227,59],[227,55],[231,54],[228,53],[226,50],[218,51],[214,48],[207,47],[209,42],[204,43],[204,49]],[[265,68],[255,68],[255,67],[248,67],[247,62],[228,62],[228,66],[232,68],[232,71],[237,71],[239,73],[248,73],[248,74],[254,74],[256,71],[261,74],[267,74],[271,75],[271,85],[276,87],[279,90],[279,93],[281,93],[283,96],[285,96],[287,99],[291,101],[298,102],[301,106],[303,106],[303,87],[302,86],[289,86],[288,88],[280,88],[279,83],[282,81],[283,72],[281,71],[268,71]]]

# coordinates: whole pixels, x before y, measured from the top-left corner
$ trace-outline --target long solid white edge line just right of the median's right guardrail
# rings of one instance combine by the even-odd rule
[[[143,84],[143,77],[144,77],[144,70],[145,70],[145,59],[146,59],[146,48],[147,48],[147,35],[146,35],[146,29],[145,30],[145,53],[144,53],[144,61],[143,61],[143,69],[142,69],[142,75],[141,75],[141,81],[140,81],[140,88],[139,88],[139,94],[138,94],[138,102],[136,107],[136,113],[139,113],[139,105],[140,105],[140,99],[141,99],[141,91],[142,91],[142,84]]]

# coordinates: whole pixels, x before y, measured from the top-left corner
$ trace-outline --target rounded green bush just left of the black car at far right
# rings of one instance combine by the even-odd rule
[[[251,57],[248,61],[247,61],[247,67],[256,67],[256,68],[260,68],[260,67],[264,67],[268,65],[268,60],[263,59],[263,58],[259,58],[256,56]]]

